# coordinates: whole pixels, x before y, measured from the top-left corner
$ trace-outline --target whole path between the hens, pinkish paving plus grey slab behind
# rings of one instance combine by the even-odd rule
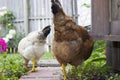
[[[42,60],[38,66],[37,72],[28,73],[19,80],[62,80],[62,69],[56,60]]]

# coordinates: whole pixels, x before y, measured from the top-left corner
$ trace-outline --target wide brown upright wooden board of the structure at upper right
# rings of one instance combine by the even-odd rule
[[[92,0],[92,32],[109,34],[109,0]]]

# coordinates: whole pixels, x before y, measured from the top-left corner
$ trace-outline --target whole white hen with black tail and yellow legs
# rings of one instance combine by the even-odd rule
[[[42,31],[34,31],[23,38],[18,45],[18,52],[23,56],[27,68],[28,62],[32,61],[32,69],[29,72],[35,72],[35,66],[40,57],[46,52],[46,37],[50,33],[50,26],[46,26]]]

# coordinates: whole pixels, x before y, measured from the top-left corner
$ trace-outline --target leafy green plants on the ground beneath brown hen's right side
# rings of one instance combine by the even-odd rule
[[[73,67],[68,75],[73,76],[72,78],[76,78],[78,80],[98,80],[97,78],[102,79],[108,67],[105,65],[105,57],[100,57],[100,55],[93,54],[92,56],[99,56],[96,58],[91,57],[89,60],[84,62],[79,67]],[[104,73],[104,74],[103,74]],[[73,79],[74,80],[74,79]]]

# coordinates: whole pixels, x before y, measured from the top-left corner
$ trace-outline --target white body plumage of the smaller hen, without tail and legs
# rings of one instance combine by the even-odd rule
[[[38,39],[41,35],[43,35],[41,31],[34,31],[19,42],[18,52],[27,60],[32,60],[34,57],[39,60],[46,52],[45,39]]]

